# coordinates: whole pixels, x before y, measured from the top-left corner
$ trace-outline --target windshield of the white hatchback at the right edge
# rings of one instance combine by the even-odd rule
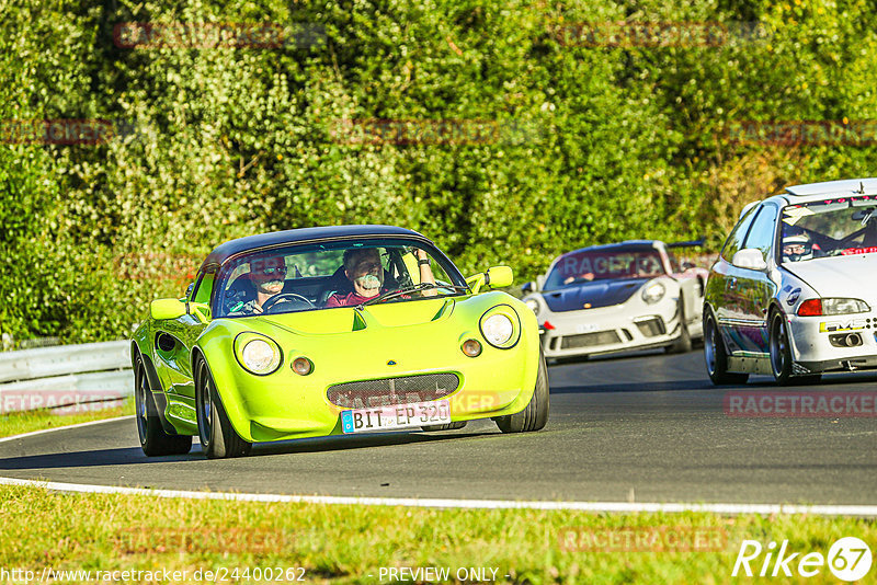
[[[877,196],[824,199],[783,209],[782,262],[877,252]]]

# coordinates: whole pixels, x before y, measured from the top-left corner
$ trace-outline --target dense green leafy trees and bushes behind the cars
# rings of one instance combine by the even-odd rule
[[[0,332],[18,339],[125,336],[209,249],[249,233],[395,223],[466,273],[508,263],[523,282],[593,243],[705,236],[715,249],[749,200],[875,174],[869,145],[728,136],[740,121],[877,119],[866,2],[80,4],[4,4],[1,117],[136,131],[0,146]],[[576,36],[620,21],[736,34],[718,46]],[[276,49],[132,49],[113,42],[123,22],[312,34]],[[745,34],[753,22],[761,33]],[[497,139],[363,141],[375,119],[487,123]]]

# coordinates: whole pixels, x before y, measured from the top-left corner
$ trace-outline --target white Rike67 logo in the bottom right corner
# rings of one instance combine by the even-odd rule
[[[797,573],[815,577],[825,565],[841,581],[858,581],[870,571],[870,549],[859,538],[844,537],[831,546],[825,558],[821,552],[793,552],[788,540],[778,550],[774,541],[763,547],[758,540],[743,540],[731,576],[791,577]]]

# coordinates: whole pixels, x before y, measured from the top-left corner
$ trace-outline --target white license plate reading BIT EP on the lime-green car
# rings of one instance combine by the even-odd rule
[[[341,429],[344,433],[374,433],[449,422],[451,403],[447,400],[356,409],[341,413]]]

